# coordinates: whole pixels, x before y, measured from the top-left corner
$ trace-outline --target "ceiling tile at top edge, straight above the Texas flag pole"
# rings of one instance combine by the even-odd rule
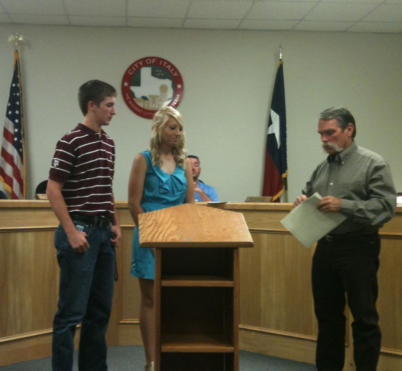
[[[254,2],[246,19],[300,20],[314,6],[309,2]]]

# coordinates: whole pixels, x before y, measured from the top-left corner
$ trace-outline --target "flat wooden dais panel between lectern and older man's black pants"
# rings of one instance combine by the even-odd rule
[[[310,274],[313,250],[291,235],[254,232],[252,237],[254,249],[240,250],[240,323],[316,336]]]

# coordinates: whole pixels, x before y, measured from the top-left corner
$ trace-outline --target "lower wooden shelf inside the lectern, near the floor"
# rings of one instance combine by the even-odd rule
[[[161,334],[162,352],[231,353],[233,342],[222,334]]]

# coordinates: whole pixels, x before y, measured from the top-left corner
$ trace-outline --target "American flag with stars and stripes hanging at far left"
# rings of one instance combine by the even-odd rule
[[[0,180],[13,200],[25,199],[24,127],[20,60],[14,51],[14,74],[4,123]]]

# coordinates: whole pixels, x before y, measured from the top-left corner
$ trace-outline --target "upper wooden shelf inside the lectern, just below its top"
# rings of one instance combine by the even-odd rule
[[[166,275],[162,287],[233,287],[233,280],[215,275]]]

